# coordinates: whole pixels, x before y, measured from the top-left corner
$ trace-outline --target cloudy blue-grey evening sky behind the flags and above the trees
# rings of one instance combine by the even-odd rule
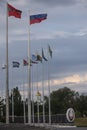
[[[30,53],[48,57],[48,44],[53,56],[48,62],[31,67],[32,81],[48,93],[69,87],[80,93],[87,92],[87,0],[9,0],[15,8],[22,10],[22,18],[8,18],[9,42],[9,88],[23,85],[27,88],[27,67],[23,59],[28,56],[28,32]],[[47,20],[29,26],[29,15],[47,13]],[[0,0],[0,89],[5,88],[6,63],[6,0]],[[19,61],[20,68],[12,68],[12,61]],[[49,67],[48,67],[49,66]],[[49,76],[48,76],[49,68]],[[38,83],[37,83],[38,81]]]

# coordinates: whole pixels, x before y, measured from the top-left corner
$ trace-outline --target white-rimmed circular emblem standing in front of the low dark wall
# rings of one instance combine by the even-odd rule
[[[75,112],[73,108],[69,108],[66,112],[66,117],[69,122],[73,122],[75,119]]]

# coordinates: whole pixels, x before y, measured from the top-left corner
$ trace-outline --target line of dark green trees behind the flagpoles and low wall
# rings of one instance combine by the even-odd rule
[[[20,94],[18,87],[13,89],[13,93],[9,96],[9,113],[12,116],[12,94],[14,100],[14,115],[24,115],[24,101]],[[79,94],[68,87],[60,88],[50,94],[51,101],[51,115],[65,114],[68,108],[73,108],[76,117],[87,116],[87,95]],[[49,113],[49,99],[44,96],[45,102],[45,115]],[[32,101],[31,101],[32,103]],[[31,108],[32,110],[32,108]],[[28,115],[28,99],[25,100],[25,112]],[[40,115],[43,114],[43,104],[39,104]],[[6,102],[0,98],[0,120],[5,120],[6,115]],[[34,115],[37,116],[37,101],[34,102]]]

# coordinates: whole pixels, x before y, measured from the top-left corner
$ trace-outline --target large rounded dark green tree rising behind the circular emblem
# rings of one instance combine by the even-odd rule
[[[63,114],[69,107],[74,108],[74,101],[77,93],[67,87],[61,88],[51,93],[52,114]]]

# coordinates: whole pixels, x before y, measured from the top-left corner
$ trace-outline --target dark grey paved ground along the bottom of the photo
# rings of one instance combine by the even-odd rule
[[[0,124],[0,130],[87,130],[87,127],[61,127],[61,128],[44,128],[44,127],[34,127],[24,124]]]

